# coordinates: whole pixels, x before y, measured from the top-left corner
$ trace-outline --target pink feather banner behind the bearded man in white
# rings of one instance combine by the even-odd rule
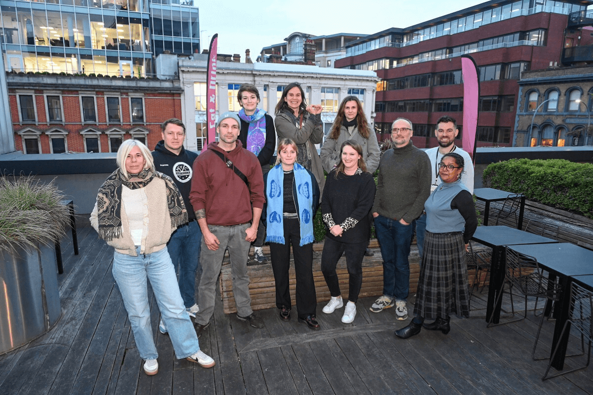
[[[480,83],[476,62],[469,55],[461,56],[461,73],[463,75],[463,131],[461,147],[471,155],[476,163],[476,130],[478,126],[478,101]]]

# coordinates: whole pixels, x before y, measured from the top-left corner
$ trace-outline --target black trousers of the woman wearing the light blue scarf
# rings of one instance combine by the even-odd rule
[[[313,281],[313,243],[299,246],[301,242],[301,226],[298,219],[283,219],[284,244],[270,243],[272,270],[276,280],[276,307],[290,309],[291,294],[289,291],[288,270],[292,255],[295,259],[295,275],[297,278],[297,311],[302,319],[315,315],[317,294]]]

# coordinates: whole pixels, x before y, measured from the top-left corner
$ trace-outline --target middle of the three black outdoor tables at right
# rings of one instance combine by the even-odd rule
[[[534,235],[508,226],[479,226],[476,229],[472,240],[482,243],[492,248],[492,259],[490,259],[490,285],[488,287],[488,303],[486,306],[486,322],[490,322],[490,317],[494,314],[493,323],[498,323],[500,319],[500,306],[502,298],[496,303],[496,298],[500,291],[500,286],[505,281],[506,262],[502,256],[505,245],[515,244],[537,244],[537,243],[557,243],[556,240],[547,237]],[[496,306],[495,306],[496,304]]]

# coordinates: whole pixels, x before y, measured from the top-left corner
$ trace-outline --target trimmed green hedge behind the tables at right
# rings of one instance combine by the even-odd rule
[[[511,159],[490,164],[485,187],[523,193],[529,200],[593,218],[593,164],[564,159]]]

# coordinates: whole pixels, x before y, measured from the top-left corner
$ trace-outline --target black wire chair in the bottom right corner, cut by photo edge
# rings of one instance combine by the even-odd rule
[[[585,353],[585,338],[588,342],[588,352],[587,352],[587,359],[586,363],[583,366],[579,366],[570,370],[565,370],[561,372],[557,372],[553,375],[548,375],[550,372],[551,362],[556,357],[556,352],[558,352],[558,347],[560,342],[556,344],[554,347],[554,351],[552,352],[552,356],[550,358],[550,362],[548,367],[546,368],[546,373],[541,378],[541,380],[547,380],[551,377],[556,377],[559,375],[563,375],[566,373],[570,373],[576,370],[581,370],[589,366],[589,362],[591,362],[591,342],[593,341],[593,319],[591,312],[593,311],[593,292],[586,290],[581,285],[576,284],[573,282],[570,287],[570,310],[568,314],[568,320],[566,320],[564,326],[562,327],[562,332],[560,332],[560,338],[562,339],[565,335],[565,332],[568,330],[576,330],[581,335],[581,354],[575,355],[583,355]],[[575,355],[568,355],[568,357],[574,357]]]

